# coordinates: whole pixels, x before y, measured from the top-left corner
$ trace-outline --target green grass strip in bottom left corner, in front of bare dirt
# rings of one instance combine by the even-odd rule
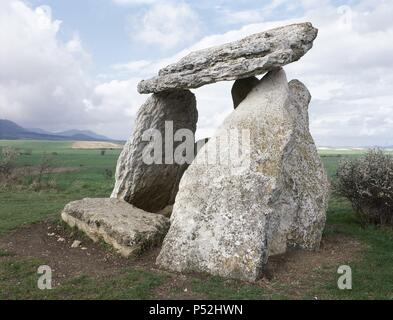
[[[37,288],[36,259],[1,262],[0,300],[3,299],[151,299],[166,276],[140,269],[127,270],[111,278],[81,275],[52,290]]]

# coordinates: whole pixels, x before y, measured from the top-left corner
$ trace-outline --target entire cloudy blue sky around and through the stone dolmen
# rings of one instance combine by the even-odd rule
[[[286,66],[313,98],[319,146],[393,145],[391,0],[0,0],[0,119],[132,134],[137,83],[187,53],[294,22],[319,29]],[[192,90],[197,138],[233,111],[231,86]]]

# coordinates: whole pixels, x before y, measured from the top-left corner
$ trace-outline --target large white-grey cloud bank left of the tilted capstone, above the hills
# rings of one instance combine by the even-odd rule
[[[140,103],[137,80],[96,83],[79,35],[63,42],[60,28],[47,6],[0,2],[0,118],[25,127],[127,136]]]

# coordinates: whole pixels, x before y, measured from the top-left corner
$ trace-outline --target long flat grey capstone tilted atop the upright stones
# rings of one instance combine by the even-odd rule
[[[218,81],[249,78],[299,60],[311,49],[318,30],[292,24],[222,46],[190,53],[159,75],[138,85],[140,93],[199,88]]]

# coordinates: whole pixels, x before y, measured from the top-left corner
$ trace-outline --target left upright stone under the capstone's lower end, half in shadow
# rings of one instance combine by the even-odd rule
[[[173,142],[173,133],[179,129],[196,130],[198,111],[195,96],[189,90],[171,90],[153,94],[138,112],[133,136],[124,146],[116,169],[116,184],[112,198],[124,199],[149,212],[158,212],[175,201],[180,179],[188,163],[168,163],[173,151],[182,142],[174,142],[171,155],[165,155],[165,122],[172,121],[173,129],[167,130]],[[168,128],[167,128],[168,129]],[[143,135],[150,130],[162,137],[162,164],[147,164],[144,152],[149,141]],[[194,138],[193,138],[194,139]],[[168,141],[169,141],[168,140]],[[195,141],[193,141],[195,143]]]

